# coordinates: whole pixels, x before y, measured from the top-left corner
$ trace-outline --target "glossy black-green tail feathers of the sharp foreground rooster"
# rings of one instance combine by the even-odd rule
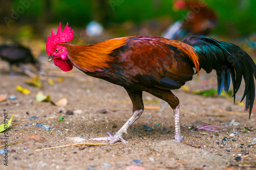
[[[205,36],[189,36],[182,42],[195,48],[200,68],[207,73],[212,69],[217,71],[218,95],[223,87],[225,91],[228,91],[231,77],[235,100],[244,77],[245,89],[241,102],[246,98],[245,108],[249,109],[250,118],[255,98],[254,78],[256,79],[256,65],[251,57],[237,45]]]

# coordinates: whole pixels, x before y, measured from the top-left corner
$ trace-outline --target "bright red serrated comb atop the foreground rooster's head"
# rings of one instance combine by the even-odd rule
[[[63,43],[63,42],[69,42],[74,37],[74,32],[71,30],[71,27],[69,27],[69,22],[67,22],[67,25],[63,31],[61,31],[61,23],[59,22],[59,28],[57,31],[57,34],[54,33],[52,30],[51,37],[48,37],[46,42],[46,51],[47,54],[50,56],[54,46]]]

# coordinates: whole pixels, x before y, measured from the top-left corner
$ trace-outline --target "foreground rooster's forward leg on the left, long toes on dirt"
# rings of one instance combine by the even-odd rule
[[[99,138],[92,138],[90,140],[106,140],[110,141],[110,144],[114,144],[117,141],[122,141],[123,143],[127,143],[122,137],[124,133],[127,133],[127,129],[133,125],[133,123],[141,116],[144,110],[144,105],[142,101],[142,91],[135,91],[132,92],[127,90],[132,102],[133,102],[133,115],[127,122],[119,129],[119,131],[113,136],[108,132],[109,137],[99,137]]]

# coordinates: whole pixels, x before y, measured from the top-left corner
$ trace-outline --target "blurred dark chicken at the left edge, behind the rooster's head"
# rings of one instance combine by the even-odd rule
[[[37,70],[40,69],[40,63],[33,57],[30,50],[17,43],[0,45],[0,58],[9,62],[10,72],[12,71],[12,65],[19,66],[27,63],[33,64]]]

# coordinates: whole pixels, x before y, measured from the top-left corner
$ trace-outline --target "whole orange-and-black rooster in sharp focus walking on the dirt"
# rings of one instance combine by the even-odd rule
[[[179,89],[186,81],[192,80],[196,69],[207,73],[217,71],[218,94],[224,88],[228,91],[230,80],[234,97],[241,85],[242,77],[246,98],[246,109],[251,114],[256,78],[256,65],[250,56],[239,46],[217,41],[205,36],[190,36],[183,41],[163,37],[144,35],[105,40],[95,44],[81,46],[67,43],[74,37],[68,23],[57,33],[52,30],[46,43],[48,61],[63,71],[73,66],[85,74],[106,80],[124,87],[133,103],[133,115],[115,134],[91,140],[107,140],[110,143],[126,142],[123,134],[141,116],[144,106],[142,91],[146,91],[166,101],[174,110],[175,140],[181,142],[180,102],[170,90]],[[254,77],[253,77],[254,76]],[[230,78],[231,77],[231,78]]]

